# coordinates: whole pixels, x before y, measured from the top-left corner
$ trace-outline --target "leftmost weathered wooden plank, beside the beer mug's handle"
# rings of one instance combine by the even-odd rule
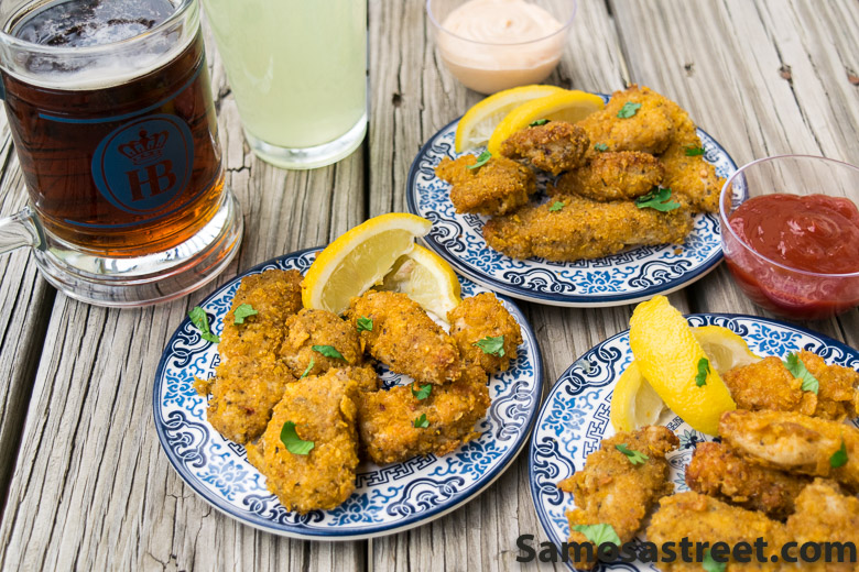
[[[6,113],[0,113],[0,217],[26,205],[21,167]],[[29,249],[0,256],[0,514],[44,342],[55,290],[41,276]]]

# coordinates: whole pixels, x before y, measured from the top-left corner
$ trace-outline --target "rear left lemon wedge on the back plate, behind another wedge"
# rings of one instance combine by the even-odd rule
[[[457,153],[463,153],[469,148],[486,145],[492,130],[513,108],[532,99],[564,91],[566,89],[556,86],[522,86],[504,89],[489,96],[471,106],[471,109],[459,120],[459,124],[456,125],[454,148]]]

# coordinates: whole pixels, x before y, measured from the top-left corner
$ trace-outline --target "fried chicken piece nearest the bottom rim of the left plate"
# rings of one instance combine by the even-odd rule
[[[248,461],[289,510],[335,508],[355,491],[357,391],[346,370],[290,384],[259,442],[248,446]],[[301,440],[313,441],[309,453],[284,447],[281,431],[286,421],[295,425]]]

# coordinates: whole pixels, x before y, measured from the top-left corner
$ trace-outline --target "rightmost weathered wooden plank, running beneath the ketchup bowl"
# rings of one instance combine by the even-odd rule
[[[855,2],[611,6],[631,79],[675,99],[738,165],[785,153],[859,164]],[[770,316],[742,295],[724,265],[689,295],[693,311]],[[857,322],[853,309],[805,326],[859,346]]]

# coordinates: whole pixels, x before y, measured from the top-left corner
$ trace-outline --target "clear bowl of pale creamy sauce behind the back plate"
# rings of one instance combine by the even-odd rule
[[[427,0],[447,69],[481,94],[543,81],[564,52],[575,0]]]

